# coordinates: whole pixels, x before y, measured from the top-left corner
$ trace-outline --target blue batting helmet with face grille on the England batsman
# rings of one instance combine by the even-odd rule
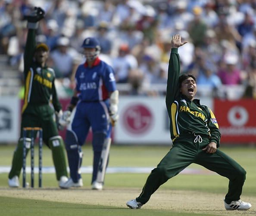
[[[96,51],[84,52],[87,61],[94,61],[94,59],[100,54],[100,42],[94,37],[85,38],[81,47],[96,49]]]

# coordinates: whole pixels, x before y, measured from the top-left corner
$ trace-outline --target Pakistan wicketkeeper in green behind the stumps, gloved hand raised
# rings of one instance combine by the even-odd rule
[[[62,118],[62,107],[56,94],[54,85],[55,74],[53,69],[47,67],[46,61],[49,55],[49,48],[44,43],[36,44],[35,32],[38,21],[44,18],[44,11],[35,8],[28,19],[28,36],[24,53],[24,78],[25,96],[22,107],[21,134],[12,159],[12,168],[9,173],[9,186],[19,187],[19,175],[22,168],[23,137],[24,127],[40,127],[43,129],[44,143],[51,149],[53,163],[56,170],[56,178],[59,187],[68,180],[65,146],[58,134],[56,122],[54,121],[54,110]],[[50,106],[52,101],[53,108]],[[31,137],[26,137],[27,153],[30,149]]]

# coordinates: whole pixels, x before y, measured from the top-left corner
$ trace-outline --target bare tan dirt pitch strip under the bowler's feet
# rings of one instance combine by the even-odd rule
[[[139,193],[140,189],[130,188],[106,188],[102,191],[90,188],[68,190],[0,188],[0,196],[112,207],[126,207],[126,201],[135,198]],[[256,215],[256,197],[242,196],[244,201],[250,202],[253,206],[247,211],[226,211],[223,198],[224,194],[159,189],[142,208],[230,216]]]

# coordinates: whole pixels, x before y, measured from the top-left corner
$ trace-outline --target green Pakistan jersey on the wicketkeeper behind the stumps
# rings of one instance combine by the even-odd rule
[[[33,61],[35,46],[35,30],[29,29],[24,53],[25,96],[22,113],[33,112],[30,105],[49,104],[50,100],[52,100],[54,110],[59,112],[61,104],[54,85],[54,70],[47,66],[41,67]]]

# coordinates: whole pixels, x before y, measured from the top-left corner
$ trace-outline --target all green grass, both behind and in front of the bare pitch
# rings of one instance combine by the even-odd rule
[[[0,145],[0,166],[10,166],[12,154],[15,146]],[[162,157],[168,152],[170,146],[111,146],[109,167],[155,167]],[[244,196],[256,197],[256,148],[253,147],[221,147],[223,152],[234,158],[247,170],[247,179],[243,188]],[[92,165],[92,147],[83,146],[84,158],[83,166]],[[37,149],[36,149],[37,154]],[[29,159],[27,159],[29,165]],[[37,158],[35,158],[37,166]],[[43,149],[43,166],[53,166],[51,152],[47,147]],[[197,164],[191,164],[190,167],[203,169]],[[113,188],[137,188],[141,189],[149,173],[108,173],[105,178],[106,186]],[[8,173],[0,173],[0,187],[7,187]],[[37,186],[37,175],[35,175]],[[82,173],[84,186],[88,187],[91,183],[91,173]],[[28,176],[29,178],[29,176]],[[20,180],[21,181],[21,180]],[[21,182],[20,182],[21,183]],[[55,174],[43,174],[43,187],[56,188],[57,182]],[[160,189],[170,190],[192,190],[195,192],[221,193],[223,196],[228,189],[228,179],[219,175],[197,175],[180,174],[170,179]],[[146,210],[138,211],[127,208],[108,207],[98,205],[70,204],[50,201],[26,200],[18,198],[0,197],[1,215],[88,215],[88,216],[195,216],[198,213],[177,213],[172,210]],[[20,214],[22,212],[22,214]],[[203,215],[203,214],[201,214]],[[208,214],[207,214],[208,215]]]

